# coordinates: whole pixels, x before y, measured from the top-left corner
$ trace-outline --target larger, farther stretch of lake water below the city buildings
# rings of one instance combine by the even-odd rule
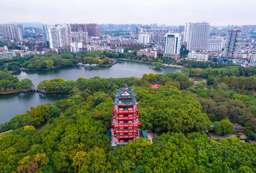
[[[77,80],[79,77],[89,79],[95,76],[101,78],[123,78],[123,77],[142,77],[147,73],[170,73],[180,72],[181,68],[149,69],[152,64],[136,61],[118,60],[112,67],[62,67],[51,70],[26,70],[12,73],[19,80],[29,78],[35,87],[40,81],[51,80],[53,78],[63,78],[64,80]],[[84,73],[84,75],[82,74]]]

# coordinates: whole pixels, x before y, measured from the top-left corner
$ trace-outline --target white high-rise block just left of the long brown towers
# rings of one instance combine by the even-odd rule
[[[68,28],[66,25],[48,27],[47,31],[51,49],[69,46]]]

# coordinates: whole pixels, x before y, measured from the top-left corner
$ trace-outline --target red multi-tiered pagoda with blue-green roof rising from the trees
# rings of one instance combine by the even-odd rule
[[[140,119],[138,102],[136,101],[137,94],[135,89],[127,88],[124,84],[123,88],[116,89],[117,94],[114,94],[115,101],[113,103],[112,112],[112,129],[113,137],[119,142],[132,142],[138,136]]]

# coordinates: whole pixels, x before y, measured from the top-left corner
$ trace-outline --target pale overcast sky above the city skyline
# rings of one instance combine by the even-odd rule
[[[256,0],[1,0],[8,22],[256,25]]]

